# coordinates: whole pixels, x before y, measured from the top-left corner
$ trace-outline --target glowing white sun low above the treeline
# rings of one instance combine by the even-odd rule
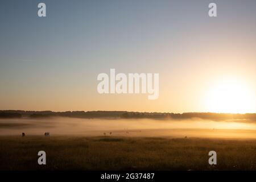
[[[245,81],[222,79],[210,88],[207,110],[214,113],[253,113],[254,94]]]

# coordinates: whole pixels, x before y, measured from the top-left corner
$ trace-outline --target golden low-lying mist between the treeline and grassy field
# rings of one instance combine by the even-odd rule
[[[203,119],[0,119],[0,135],[85,135],[127,137],[204,137],[256,139],[256,125],[245,121]]]

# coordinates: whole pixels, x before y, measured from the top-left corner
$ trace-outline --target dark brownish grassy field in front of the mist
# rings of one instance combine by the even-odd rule
[[[38,165],[38,151],[47,165]],[[217,152],[217,165],[208,152]],[[256,140],[0,137],[0,170],[256,170]]]

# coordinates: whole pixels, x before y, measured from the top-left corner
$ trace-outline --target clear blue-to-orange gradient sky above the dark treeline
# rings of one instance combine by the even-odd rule
[[[0,24],[0,110],[256,113],[254,0],[3,0]],[[99,94],[110,68],[159,73],[159,98]]]

